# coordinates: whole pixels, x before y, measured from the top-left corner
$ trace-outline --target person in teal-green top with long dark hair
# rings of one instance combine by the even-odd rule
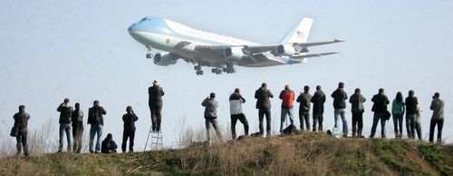
[[[395,128],[395,138],[402,137],[402,116],[405,112],[402,93],[398,92],[395,100],[391,103],[391,115],[393,116],[393,127]]]

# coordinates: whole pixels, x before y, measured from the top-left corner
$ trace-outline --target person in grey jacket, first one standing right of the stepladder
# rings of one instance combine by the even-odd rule
[[[209,133],[209,126],[212,124],[212,127],[216,131],[217,138],[219,141],[223,141],[222,134],[220,133],[217,127],[217,107],[218,103],[216,100],[216,93],[210,93],[209,96],[201,103],[205,107],[205,124],[207,130],[207,142],[211,140]]]

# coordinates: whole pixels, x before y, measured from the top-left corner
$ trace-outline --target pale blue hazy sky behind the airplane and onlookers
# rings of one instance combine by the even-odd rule
[[[184,128],[204,127],[200,103],[217,93],[218,122],[229,128],[228,96],[236,87],[246,98],[244,112],[250,131],[258,131],[255,90],[265,82],[277,95],[289,83],[298,94],[304,85],[313,93],[322,85],[328,95],[324,129],[333,127],[333,99],[338,82],[351,95],[357,87],[364,104],[364,132],[371,131],[371,97],[384,88],[390,101],[397,92],[414,90],[422,112],[423,138],[428,140],[431,96],[446,103],[443,138],[453,142],[451,46],[452,1],[0,1],[0,142],[9,138],[12,116],[20,104],[31,114],[29,129],[52,121],[58,129],[57,106],[64,98],[81,103],[87,113],[99,100],[107,111],[107,133],[120,143],[121,116],[131,105],[137,122],[136,151],[142,150],[150,119],[148,87],[159,79],[165,91],[162,110],[164,145],[178,141]],[[346,42],[311,48],[312,53],[339,52],[309,59],[306,64],[265,68],[236,67],[234,74],[196,75],[193,65],[179,61],[159,66],[145,58],[146,48],[127,32],[144,16],[159,16],[190,27],[275,44],[304,16],[313,18],[309,42],[342,39]],[[280,103],[272,100],[273,131],[280,125]],[[351,127],[351,105],[347,120]],[[298,105],[294,108],[296,126]],[[86,120],[86,119],[85,119]],[[387,122],[387,134],[393,124]],[[88,127],[85,127],[88,132]],[[243,133],[240,123],[238,133]],[[381,127],[378,126],[378,132]],[[406,129],[404,128],[406,135]],[[58,133],[54,132],[54,141]]]

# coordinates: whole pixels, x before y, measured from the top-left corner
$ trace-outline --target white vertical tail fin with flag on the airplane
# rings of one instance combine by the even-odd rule
[[[299,24],[295,25],[288,34],[285,34],[278,44],[304,43],[312,28],[313,19],[304,17]]]

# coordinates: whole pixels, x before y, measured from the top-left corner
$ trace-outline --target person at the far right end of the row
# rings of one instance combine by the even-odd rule
[[[438,125],[438,140],[442,142],[442,127],[444,126],[444,101],[440,99],[440,93],[434,93],[429,109],[432,110],[431,122],[429,122],[429,142],[434,141],[434,128]]]

